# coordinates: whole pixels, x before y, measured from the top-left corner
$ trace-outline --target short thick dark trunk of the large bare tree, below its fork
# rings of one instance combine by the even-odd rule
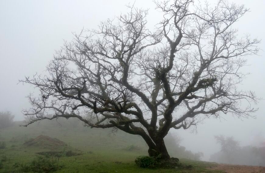
[[[155,141],[155,148],[149,148],[148,153],[150,156],[157,157],[161,155],[159,158],[163,160],[169,160],[170,156],[168,154],[167,148],[164,143],[164,139],[158,138]]]

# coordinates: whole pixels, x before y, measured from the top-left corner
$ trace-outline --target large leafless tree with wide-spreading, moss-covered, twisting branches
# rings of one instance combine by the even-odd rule
[[[155,3],[163,20],[154,32],[147,29],[147,10],[129,6],[127,14],[65,42],[47,75],[22,80],[40,91],[29,96],[25,126],[76,117],[90,127],[140,135],[150,156],[169,159],[163,138],[171,128],[196,127],[221,112],[253,117],[258,99],[237,84],[246,75],[242,57],[256,54],[260,41],[237,38],[232,28],[248,9],[225,0]],[[45,117],[51,110],[53,117]]]

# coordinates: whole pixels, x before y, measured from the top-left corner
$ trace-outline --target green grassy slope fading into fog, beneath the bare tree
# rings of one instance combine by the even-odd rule
[[[25,141],[41,134],[64,141],[67,147],[60,150],[82,153],[60,157],[59,160],[53,156],[47,158],[55,161],[55,167],[58,166],[54,172],[221,172],[207,169],[215,166],[215,163],[181,158],[180,166],[174,169],[140,168],[135,165],[135,158],[147,155],[147,146],[140,137],[124,132],[112,133],[111,130],[91,129],[83,127],[79,122],[60,123],[62,127],[56,121],[49,121],[29,127],[19,127],[16,124],[1,129],[0,142],[5,142],[6,146],[0,149],[0,172],[23,172],[23,165],[30,165],[40,157],[36,153],[51,151],[50,148],[23,145]],[[132,145],[137,146],[136,149],[130,147]]]

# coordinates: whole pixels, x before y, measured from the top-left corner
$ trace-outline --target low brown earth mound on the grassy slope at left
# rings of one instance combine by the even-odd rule
[[[57,138],[51,138],[49,136],[40,135],[36,138],[30,139],[24,143],[25,146],[36,146],[36,147],[42,147],[42,148],[60,148],[67,146],[67,144],[63,141],[60,141]]]

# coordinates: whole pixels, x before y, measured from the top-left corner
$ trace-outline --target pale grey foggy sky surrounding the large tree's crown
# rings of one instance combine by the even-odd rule
[[[195,0],[196,1],[196,0]],[[260,48],[265,47],[264,0],[228,0],[245,4],[250,8],[236,27],[239,34],[249,33],[252,38],[262,40]],[[30,107],[27,98],[33,87],[17,84],[24,76],[42,73],[55,50],[60,49],[63,40],[70,41],[72,32],[84,28],[96,29],[100,21],[113,19],[121,12],[126,12],[125,5],[134,0],[97,0],[97,1],[55,1],[55,0],[0,0],[0,111],[12,111],[16,120],[22,120],[21,110]],[[215,0],[209,0],[214,3]],[[136,0],[136,7],[150,8],[149,26],[153,27],[159,20],[152,0]],[[265,49],[264,49],[265,50]],[[253,90],[258,97],[265,98],[265,57],[249,56],[244,72],[251,73],[239,86],[244,90]],[[198,133],[189,130],[177,132],[183,139],[182,145],[192,151],[201,151],[207,160],[218,149],[214,135],[234,136],[242,145],[254,144],[256,138],[265,137],[265,101],[256,107],[256,119],[237,119],[225,115],[220,120],[208,119],[198,125]],[[84,127],[85,128],[85,127]],[[196,141],[196,142],[195,142]]]

